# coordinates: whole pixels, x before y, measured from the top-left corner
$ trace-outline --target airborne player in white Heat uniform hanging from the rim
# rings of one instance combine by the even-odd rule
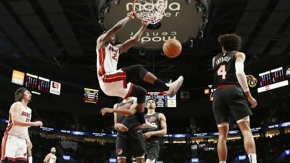
[[[169,97],[173,97],[180,88],[183,77],[180,76],[175,82],[170,84],[156,78],[152,73],[148,72],[141,65],[129,66],[117,70],[118,57],[121,53],[128,50],[134,43],[136,43],[143,34],[148,23],[142,21],[142,27],[132,37],[123,44],[115,45],[114,34],[121,30],[125,24],[134,19],[133,12],[129,16],[119,21],[114,27],[97,40],[97,68],[98,80],[102,91],[108,96],[119,96],[124,99],[130,97],[137,97],[138,106],[138,120],[140,122],[140,129],[153,129],[156,125],[146,123],[144,119],[145,96],[147,91],[137,85],[130,83],[134,79],[149,82],[156,87],[161,88]]]

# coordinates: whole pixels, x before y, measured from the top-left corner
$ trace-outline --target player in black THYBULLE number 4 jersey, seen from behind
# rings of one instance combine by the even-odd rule
[[[236,34],[224,34],[218,37],[222,53],[212,59],[214,68],[213,112],[218,125],[218,158],[220,163],[227,160],[227,134],[229,132],[229,113],[232,113],[243,134],[244,146],[250,163],[257,163],[256,147],[250,129],[252,112],[243,91],[248,97],[251,107],[257,106],[252,97],[244,73],[245,54],[238,52],[241,48],[241,37]]]

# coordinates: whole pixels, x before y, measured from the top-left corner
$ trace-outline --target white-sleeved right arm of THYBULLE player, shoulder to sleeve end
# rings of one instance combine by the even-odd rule
[[[236,67],[237,79],[241,87],[243,88],[244,92],[247,92],[249,91],[249,86],[247,83],[246,74],[244,72],[244,63],[243,63],[246,57],[244,53],[237,53],[236,56],[237,58],[236,58],[235,67]]]

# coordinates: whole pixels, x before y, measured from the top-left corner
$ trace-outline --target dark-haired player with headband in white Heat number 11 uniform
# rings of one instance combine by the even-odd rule
[[[30,122],[31,109],[27,107],[31,101],[31,94],[25,88],[19,88],[15,92],[15,103],[9,110],[9,122],[1,146],[2,163],[24,163],[27,161],[27,147],[32,148],[28,135],[28,126],[42,126],[42,122]]]

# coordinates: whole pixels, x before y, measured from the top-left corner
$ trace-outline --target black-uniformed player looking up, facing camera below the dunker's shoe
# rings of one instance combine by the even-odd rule
[[[147,152],[146,163],[155,163],[159,154],[159,136],[164,136],[167,132],[166,118],[163,113],[155,112],[156,100],[154,98],[148,98],[146,104],[148,109],[148,113],[145,114],[146,122],[157,125],[156,129],[143,131]],[[136,162],[135,158],[132,162]]]

